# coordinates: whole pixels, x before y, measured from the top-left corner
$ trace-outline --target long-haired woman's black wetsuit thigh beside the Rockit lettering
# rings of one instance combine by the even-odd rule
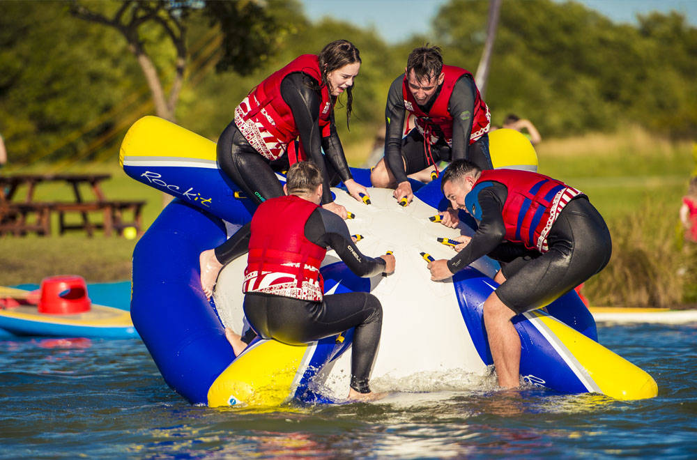
[[[220,169],[250,197],[257,206],[269,198],[282,197],[283,187],[268,160],[245,139],[234,121],[217,143]]]

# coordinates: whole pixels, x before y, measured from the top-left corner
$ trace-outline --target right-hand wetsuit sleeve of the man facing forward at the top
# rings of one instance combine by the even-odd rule
[[[448,111],[452,116],[452,160],[470,160],[468,153],[476,95],[475,82],[469,75],[462,75],[455,82],[448,101]]]

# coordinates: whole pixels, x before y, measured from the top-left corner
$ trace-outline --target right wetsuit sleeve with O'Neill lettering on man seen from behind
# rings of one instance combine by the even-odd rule
[[[385,271],[385,261],[380,257],[368,257],[355,246],[344,220],[323,208],[317,208],[305,223],[305,237],[312,243],[329,246],[360,277],[372,277]]]

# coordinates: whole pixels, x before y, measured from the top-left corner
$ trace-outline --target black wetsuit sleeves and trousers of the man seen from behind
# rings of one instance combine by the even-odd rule
[[[251,224],[237,231],[215,249],[221,263],[247,252]],[[385,261],[363,255],[355,246],[348,228],[338,215],[317,208],[305,223],[305,236],[322,247],[331,247],[360,277],[383,273]],[[285,344],[304,344],[355,327],[351,349],[351,388],[369,392],[368,377],[375,360],[383,324],[380,300],[367,292],[350,292],[324,296],[322,302],[263,293],[245,295],[245,315],[252,328],[267,339]]]

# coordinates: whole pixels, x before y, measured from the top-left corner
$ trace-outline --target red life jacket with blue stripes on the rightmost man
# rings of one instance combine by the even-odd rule
[[[549,250],[547,236],[552,225],[564,206],[581,194],[579,190],[556,179],[516,169],[482,171],[469,194],[474,192],[476,199],[481,189],[477,185],[487,181],[502,183],[508,189],[503,204],[505,239],[512,243],[523,243],[528,249],[539,252]]]

